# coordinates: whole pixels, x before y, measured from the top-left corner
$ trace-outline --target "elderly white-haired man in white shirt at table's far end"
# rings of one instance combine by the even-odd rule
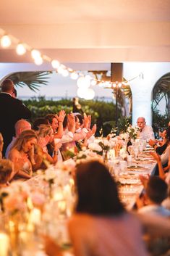
[[[141,139],[155,139],[153,128],[149,125],[146,125],[145,118],[144,117],[138,117],[137,118],[137,126],[140,128],[140,138]]]

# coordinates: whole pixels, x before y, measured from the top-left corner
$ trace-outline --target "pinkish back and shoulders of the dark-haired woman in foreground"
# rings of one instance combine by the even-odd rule
[[[146,256],[139,220],[129,213],[119,217],[75,214],[69,221],[75,256]]]

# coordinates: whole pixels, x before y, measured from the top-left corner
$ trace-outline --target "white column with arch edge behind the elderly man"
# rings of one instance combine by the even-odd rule
[[[137,117],[145,117],[146,123],[152,125],[152,91],[156,81],[170,72],[169,62],[130,62],[124,64],[124,78],[135,78],[143,73],[143,79],[136,78],[129,82],[132,90],[132,124]]]

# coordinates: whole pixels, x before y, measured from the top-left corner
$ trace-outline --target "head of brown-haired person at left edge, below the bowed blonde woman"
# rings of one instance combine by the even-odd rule
[[[13,163],[10,160],[2,159],[0,160],[0,183],[4,184],[9,181],[13,170]]]

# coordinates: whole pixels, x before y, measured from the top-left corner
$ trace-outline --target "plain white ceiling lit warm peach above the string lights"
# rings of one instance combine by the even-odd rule
[[[0,28],[64,63],[170,61],[170,0],[5,0]]]

